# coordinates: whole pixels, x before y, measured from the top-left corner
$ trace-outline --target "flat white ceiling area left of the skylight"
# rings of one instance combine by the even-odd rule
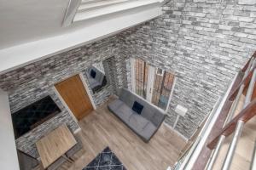
[[[69,0],[0,0],[0,49],[60,34]]]

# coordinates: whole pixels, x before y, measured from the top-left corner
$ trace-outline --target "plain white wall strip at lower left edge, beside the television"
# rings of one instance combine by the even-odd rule
[[[8,94],[0,88],[0,169],[19,170]]]

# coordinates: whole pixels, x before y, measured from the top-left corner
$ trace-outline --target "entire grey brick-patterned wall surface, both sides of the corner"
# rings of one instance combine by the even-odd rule
[[[36,154],[35,141],[61,122],[73,130],[78,128],[55,95],[55,82],[78,73],[85,75],[89,65],[104,60],[108,87],[98,94],[90,89],[96,105],[101,105],[117,88],[131,88],[131,57],[176,75],[166,122],[173,125],[176,105],[187,107],[189,112],[177,122],[176,130],[191,137],[256,49],[255,5],[255,0],[171,0],[155,20],[0,75],[0,88],[9,91],[12,112],[45,95],[62,111],[18,139],[18,148]]]

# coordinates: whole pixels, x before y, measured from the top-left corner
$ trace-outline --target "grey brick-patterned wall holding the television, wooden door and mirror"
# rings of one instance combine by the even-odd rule
[[[115,88],[120,88],[124,85],[123,82],[127,82],[125,80],[119,80],[125,78],[123,77],[123,69],[121,68],[121,65],[124,65],[121,62],[125,61],[125,59],[119,59],[119,40],[117,37],[110,37],[100,42],[56,54],[55,56],[0,75],[0,88],[9,92],[12,113],[46,95],[50,95],[61,108],[61,114],[44,122],[19,139],[16,139],[18,149],[32,156],[38,156],[35,142],[45,133],[50,132],[62,123],[67,123],[73,131],[79,128],[73,116],[61,104],[53,87],[56,82],[61,82],[79,73],[82,73],[85,82],[88,84],[84,71],[90,65],[99,61],[103,61],[107,77],[113,79],[113,81],[108,82],[108,87],[103,88],[97,94],[93,94],[90,89],[90,94],[95,104],[101,105],[108,99],[109,95],[116,92]],[[111,71],[111,68],[115,69],[115,71]]]

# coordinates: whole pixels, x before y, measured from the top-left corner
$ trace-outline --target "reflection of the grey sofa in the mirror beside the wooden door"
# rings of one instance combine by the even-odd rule
[[[95,71],[96,76],[91,77],[90,72]],[[90,83],[90,88],[92,88],[93,93],[96,93],[99,91],[102,87],[104,87],[107,84],[107,79],[104,73],[102,71],[99,71],[96,67],[91,66],[88,71],[86,71],[88,81]]]

